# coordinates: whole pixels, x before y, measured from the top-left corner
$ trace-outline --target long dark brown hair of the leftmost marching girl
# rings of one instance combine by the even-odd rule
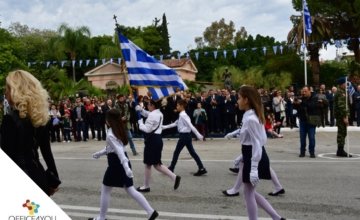
[[[121,140],[124,145],[127,145],[128,138],[125,131],[124,122],[121,120],[120,111],[115,108],[110,109],[108,112],[106,112],[106,121],[112,128],[115,137]]]

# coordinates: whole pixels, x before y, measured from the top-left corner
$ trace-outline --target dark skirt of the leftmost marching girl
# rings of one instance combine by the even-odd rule
[[[125,156],[128,158],[127,154]],[[130,187],[133,186],[133,179],[126,176],[124,167],[121,165],[120,159],[117,154],[109,153],[108,158],[108,168],[106,169],[103,184],[105,186],[112,187]],[[129,167],[131,164],[129,161]]]

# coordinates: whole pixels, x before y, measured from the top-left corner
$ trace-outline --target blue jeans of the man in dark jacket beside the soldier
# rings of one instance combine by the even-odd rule
[[[306,151],[306,136],[309,137],[309,153],[315,154],[316,126],[300,121],[300,154]]]

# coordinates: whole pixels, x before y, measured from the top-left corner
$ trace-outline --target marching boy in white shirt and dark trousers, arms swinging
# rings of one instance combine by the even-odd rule
[[[179,155],[182,149],[186,146],[187,150],[189,151],[192,158],[194,158],[198,166],[198,171],[194,173],[194,176],[202,176],[207,173],[207,170],[205,169],[204,165],[201,162],[200,157],[198,156],[192,145],[191,131],[194,132],[194,134],[199,140],[203,140],[204,137],[191,124],[190,117],[185,112],[186,105],[187,105],[186,100],[184,99],[179,100],[176,104],[176,110],[180,112],[179,119],[172,124],[162,126],[163,129],[173,128],[177,126],[179,132],[179,140],[176,144],[176,148],[173,154],[173,159],[168,168],[169,170],[174,171]]]

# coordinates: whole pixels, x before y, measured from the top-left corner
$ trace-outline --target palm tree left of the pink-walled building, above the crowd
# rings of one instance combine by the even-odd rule
[[[60,25],[58,29],[61,35],[60,42],[63,44],[64,52],[70,56],[72,61],[76,60],[76,56],[81,48],[86,43],[87,38],[90,37],[90,29],[86,26],[73,29],[67,24]],[[75,66],[73,65],[73,80],[75,79]]]

